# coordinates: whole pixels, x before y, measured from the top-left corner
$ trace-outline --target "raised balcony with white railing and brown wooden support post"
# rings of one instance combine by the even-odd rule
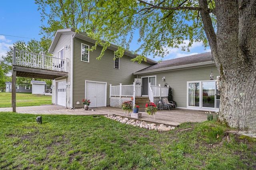
[[[12,111],[16,112],[16,76],[53,80],[68,76],[66,59],[22,51],[14,47],[12,57]]]

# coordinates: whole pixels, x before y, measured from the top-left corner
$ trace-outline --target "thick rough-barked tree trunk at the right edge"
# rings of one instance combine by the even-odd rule
[[[216,1],[221,75],[220,117],[230,127],[256,130],[256,0]]]

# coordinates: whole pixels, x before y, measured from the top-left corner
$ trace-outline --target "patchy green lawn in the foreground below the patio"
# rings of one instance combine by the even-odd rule
[[[37,116],[0,113],[0,169],[256,168],[256,140],[214,121],[160,133],[98,115],[43,115],[42,124]]]

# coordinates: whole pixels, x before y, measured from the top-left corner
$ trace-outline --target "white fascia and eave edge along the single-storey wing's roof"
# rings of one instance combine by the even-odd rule
[[[185,64],[185,65],[180,65],[180,66],[171,66],[171,67],[165,67],[165,68],[158,68],[154,70],[145,70],[145,71],[138,71],[134,72],[134,75],[140,75],[140,74],[147,74],[147,73],[152,73],[152,72],[164,72],[164,71],[170,71],[170,70],[182,70],[186,68],[193,68],[193,67],[202,67],[202,66],[210,66],[210,65],[215,65],[212,63],[212,61],[205,61],[201,63],[192,63],[192,64]]]

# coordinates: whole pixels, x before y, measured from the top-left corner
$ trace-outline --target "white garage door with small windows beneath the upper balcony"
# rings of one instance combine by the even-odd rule
[[[57,82],[57,105],[66,107],[66,80]]]

